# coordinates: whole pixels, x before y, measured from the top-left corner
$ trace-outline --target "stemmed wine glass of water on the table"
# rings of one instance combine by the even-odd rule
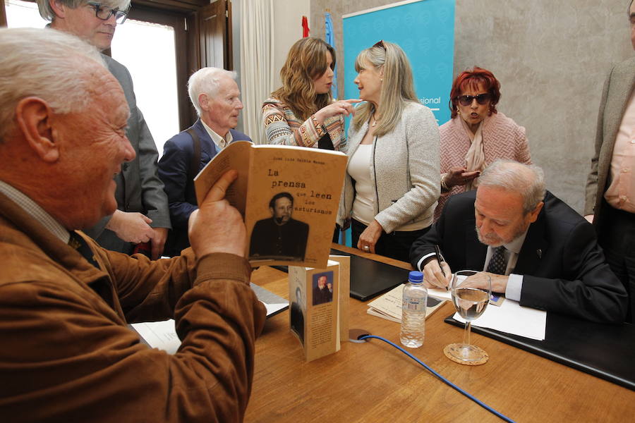
[[[480,288],[473,285],[478,285]],[[445,351],[459,362],[470,363],[483,360],[487,357],[487,353],[476,345],[470,344],[470,328],[471,321],[480,317],[488,307],[492,294],[492,278],[482,271],[459,270],[452,275],[450,288],[454,308],[467,322],[463,343],[449,344],[445,347]]]

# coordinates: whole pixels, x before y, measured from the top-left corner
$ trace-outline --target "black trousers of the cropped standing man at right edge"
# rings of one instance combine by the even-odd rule
[[[614,209],[605,202],[598,222],[598,241],[606,262],[629,295],[625,321],[635,323],[635,214]]]

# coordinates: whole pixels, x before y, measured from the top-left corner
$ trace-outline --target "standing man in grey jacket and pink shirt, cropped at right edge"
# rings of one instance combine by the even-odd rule
[[[628,18],[635,49],[632,0]],[[626,321],[635,323],[635,57],[615,65],[604,84],[584,214],[629,294]]]

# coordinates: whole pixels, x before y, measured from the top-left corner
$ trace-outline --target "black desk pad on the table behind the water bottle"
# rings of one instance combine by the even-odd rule
[[[351,297],[357,300],[370,300],[408,281],[406,269],[339,250],[332,249],[331,254],[351,257]]]

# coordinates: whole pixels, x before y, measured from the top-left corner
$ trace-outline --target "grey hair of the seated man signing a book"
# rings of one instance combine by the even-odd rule
[[[497,159],[478,177],[478,186],[518,192],[523,197],[523,211],[529,213],[545,198],[545,173],[533,164]]]

